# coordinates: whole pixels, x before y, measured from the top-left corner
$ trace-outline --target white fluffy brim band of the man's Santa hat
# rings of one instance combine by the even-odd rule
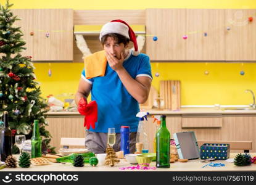
[[[129,28],[124,23],[120,23],[120,22],[105,23],[105,25],[103,25],[103,27],[101,28],[101,33],[99,34],[99,40],[101,41],[102,36],[107,35],[109,33],[118,33],[130,39]]]

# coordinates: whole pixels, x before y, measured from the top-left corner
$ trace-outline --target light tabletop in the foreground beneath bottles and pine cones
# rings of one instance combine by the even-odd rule
[[[255,153],[250,154],[252,157]],[[15,157],[19,157],[14,155]],[[231,153],[229,160],[234,158],[236,153]],[[73,167],[72,163],[52,163],[44,166],[33,166],[29,168],[4,168],[1,171],[256,171],[256,163],[252,163],[249,166],[237,167],[233,162],[227,162],[226,160],[215,160],[213,163],[221,163],[221,167],[212,167],[210,162],[200,162],[200,159],[188,160],[188,162],[175,162],[170,164],[170,168],[154,168],[155,162],[151,162],[149,169],[128,169],[128,167],[138,167],[138,165],[131,165],[125,159],[120,159],[120,162],[115,164],[114,167],[109,166],[96,166],[91,167],[88,163],[84,167]],[[224,165],[223,165],[224,164]],[[207,166],[205,166],[207,165]],[[205,167],[204,167],[205,166]],[[204,168],[203,168],[204,167]]]

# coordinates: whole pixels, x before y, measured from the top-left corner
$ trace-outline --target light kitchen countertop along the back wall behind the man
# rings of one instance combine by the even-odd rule
[[[183,114],[256,114],[256,110],[224,110],[214,108],[181,108],[180,110],[141,109],[153,115],[183,115]],[[79,112],[47,112],[46,115],[80,115]]]

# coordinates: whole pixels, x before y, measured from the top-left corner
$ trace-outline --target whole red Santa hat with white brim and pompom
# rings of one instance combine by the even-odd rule
[[[130,39],[134,45],[133,55],[138,55],[138,44],[136,40],[136,35],[128,23],[124,22],[123,20],[112,20],[101,28],[101,33],[99,34],[99,40],[101,41],[102,36],[107,35],[109,33],[118,33],[120,35],[125,36],[126,38]]]

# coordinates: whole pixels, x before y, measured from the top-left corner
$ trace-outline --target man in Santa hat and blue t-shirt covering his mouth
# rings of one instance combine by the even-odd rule
[[[107,59],[105,73],[87,79],[86,70],[83,70],[75,96],[78,110],[78,102],[83,97],[87,98],[90,91],[92,101],[97,102],[96,128],[86,131],[85,146],[96,154],[104,153],[108,128],[115,128],[117,134],[113,148],[118,151],[120,127],[130,126],[130,152],[133,153],[139,123],[136,113],[139,112],[139,104],[146,102],[151,88],[149,57],[139,54],[134,32],[122,20],[106,23],[99,39]],[[133,41],[135,51],[128,49],[129,41]]]

